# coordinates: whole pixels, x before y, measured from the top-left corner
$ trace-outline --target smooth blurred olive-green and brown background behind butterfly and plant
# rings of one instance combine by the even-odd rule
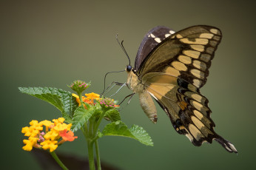
[[[44,101],[18,92],[18,86],[53,86],[69,90],[76,79],[92,81],[87,92],[103,90],[104,74],[135,60],[148,30],[173,30],[196,24],[220,28],[223,39],[212,61],[206,86],[216,132],[232,141],[239,154],[218,143],[195,147],[172,128],[158,106],[158,123],[144,115],[138,96],[121,110],[128,126],[143,126],[155,146],[124,137],[99,140],[101,160],[121,169],[243,169],[255,165],[255,4],[250,1],[1,1],[1,169],[40,169],[22,147],[21,128],[30,120],[52,120],[60,112]],[[125,72],[112,81],[125,82]],[[116,88],[117,89],[117,88]],[[116,90],[115,89],[115,90]],[[112,92],[115,92],[113,90]],[[129,95],[126,87],[115,96]],[[58,150],[87,157],[81,133]]]

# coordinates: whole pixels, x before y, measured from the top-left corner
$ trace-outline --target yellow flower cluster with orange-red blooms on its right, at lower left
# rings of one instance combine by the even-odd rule
[[[28,137],[28,140],[23,140],[25,146],[22,147],[25,151],[31,151],[34,148],[49,149],[53,152],[57,149],[58,145],[65,141],[73,141],[77,136],[70,131],[72,124],[64,123],[64,118],[43,120],[32,120],[30,127],[26,126],[22,128],[21,132],[24,136]],[[60,140],[62,138],[62,140]]]

